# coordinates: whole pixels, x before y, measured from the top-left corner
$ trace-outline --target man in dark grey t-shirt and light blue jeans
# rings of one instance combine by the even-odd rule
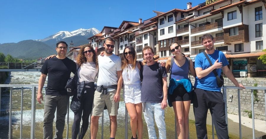
[[[146,65],[141,69],[142,87],[141,102],[147,123],[149,138],[157,138],[154,121],[159,130],[159,138],[166,139],[164,108],[167,106],[167,73],[166,68],[153,60],[153,48],[145,46],[142,50]],[[154,115],[154,117],[153,117]]]

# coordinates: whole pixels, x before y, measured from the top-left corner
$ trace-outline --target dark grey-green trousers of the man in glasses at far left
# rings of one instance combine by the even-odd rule
[[[46,95],[44,102],[44,120],[43,120],[43,138],[44,139],[62,139],[65,127],[65,118],[67,114],[67,103],[69,96]],[[56,129],[53,137],[53,119],[56,111]]]

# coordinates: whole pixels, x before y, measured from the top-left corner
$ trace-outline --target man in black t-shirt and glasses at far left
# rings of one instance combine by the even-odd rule
[[[76,72],[74,61],[66,57],[67,43],[60,41],[56,44],[56,57],[46,60],[41,68],[41,76],[38,84],[37,101],[43,100],[42,89],[48,75],[47,90],[44,103],[43,138],[63,138],[67,103],[69,97],[65,86],[70,73]],[[53,119],[56,111],[56,130],[53,137]]]

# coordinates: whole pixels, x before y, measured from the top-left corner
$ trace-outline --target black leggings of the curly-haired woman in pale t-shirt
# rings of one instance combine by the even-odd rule
[[[79,139],[82,139],[89,127],[89,117],[92,110],[95,88],[86,88],[86,93],[82,95],[81,106],[77,113],[74,114],[74,122],[72,125],[72,139],[76,139],[80,131]],[[83,112],[83,114],[82,114]],[[80,121],[82,126],[80,130]]]

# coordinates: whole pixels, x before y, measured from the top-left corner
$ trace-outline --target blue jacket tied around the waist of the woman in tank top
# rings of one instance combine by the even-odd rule
[[[173,94],[173,91],[180,84],[184,86],[184,88],[186,89],[187,92],[191,92],[193,90],[191,81],[189,79],[181,79],[179,81],[176,81],[175,79],[172,78],[172,79],[170,79],[170,83],[169,83],[169,87],[168,87],[168,94]],[[173,105],[169,102],[170,101],[169,101],[169,97],[168,97],[169,107],[172,107]]]

